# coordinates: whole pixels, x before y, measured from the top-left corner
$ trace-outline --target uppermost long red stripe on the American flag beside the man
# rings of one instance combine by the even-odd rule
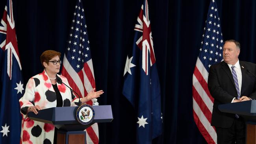
[[[194,70],[194,75],[197,78],[197,80],[199,81],[200,85],[202,86],[202,88],[204,89],[204,91],[206,92],[206,94],[209,96],[211,102],[214,102],[213,97],[210,94],[210,91],[208,89],[208,84],[205,81],[205,79],[203,78],[202,74],[200,73],[200,71],[197,69],[197,66],[195,66],[195,70]]]

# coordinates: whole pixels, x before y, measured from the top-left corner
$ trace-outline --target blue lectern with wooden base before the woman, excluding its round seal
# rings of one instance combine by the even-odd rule
[[[83,131],[94,123],[111,122],[113,114],[111,105],[94,105],[95,111],[93,122],[89,125],[80,124],[76,120],[76,110],[78,107],[52,107],[28,113],[31,120],[53,124],[57,127],[57,144],[85,144],[86,133]]]

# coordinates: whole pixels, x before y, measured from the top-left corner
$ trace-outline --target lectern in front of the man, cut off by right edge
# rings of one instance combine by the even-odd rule
[[[239,114],[246,121],[246,143],[256,144],[256,100],[219,105],[224,113]]]

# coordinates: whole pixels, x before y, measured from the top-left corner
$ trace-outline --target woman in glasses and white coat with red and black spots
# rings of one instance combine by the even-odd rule
[[[61,53],[54,50],[46,50],[41,55],[43,72],[28,80],[26,90],[20,98],[20,113],[22,114],[21,142],[33,144],[56,143],[56,131],[52,124],[30,120],[27,114],[38,113],[41,109],[51,107],[76,106],[78,99],[72,94],[67,78],[58,75],[61,65]],[[61,82],[57,81],[61,79]],[[91,90],[86,97],[81,98],[82,104],[93,98],[98,98],[103,91],[94,92]]]

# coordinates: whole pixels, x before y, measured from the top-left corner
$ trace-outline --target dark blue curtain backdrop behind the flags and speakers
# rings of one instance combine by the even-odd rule
[[[122,95],[126,55],[142,0],[82,0],[100,105],[114,120],[99,124],[101,144],[135,143],[135,112]],[[223,38],[241,42],[239,59],[256,62],[256,1],[215,0]],[[210,0],[148,0],[161,84],[163,134],[158,144],[204,144],[192,114],[192,75]],[[0,1],[0,15],[6,0]],[[24,82],[43,71],[45,50],[66,49],[76,0],[13,0]]]

